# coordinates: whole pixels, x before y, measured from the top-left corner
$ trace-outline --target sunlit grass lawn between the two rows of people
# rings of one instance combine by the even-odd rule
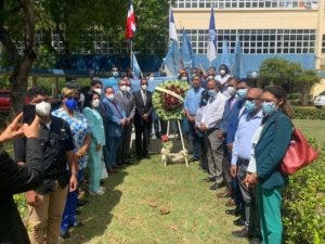
[[[235,217],[205,177],[197,163],[164,167],[157,155],[121,169],[106,179],[105,195],[89,198],[84,226],[64,243],[248,243],[232,236]]]

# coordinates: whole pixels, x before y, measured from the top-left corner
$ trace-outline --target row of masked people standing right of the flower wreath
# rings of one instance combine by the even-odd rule
[[[188,77],[183,70],[182,77]],[[229,74],[192,73],[184,100],[192,162],[199,160],[218,197],[230,197],[226,214],[238,216],[232,234],[250,243],[281,244],[282,191],[286,176],[280,164],[290,143],[291,110],[283,88],[263,90]]]

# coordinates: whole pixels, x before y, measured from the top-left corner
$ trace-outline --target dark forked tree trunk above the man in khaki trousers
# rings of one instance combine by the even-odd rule
[[[0,2],[2,3],[2,2]],[[4,28],[4,23],[0,23],[0,41],[9,55],[10,64],[13,66],[13,73],[10,77],[12,90],[12,106],[10,110],[11,116],[15,115],[22,110],[25,102],[25,94],[27,89],[27,78],[32,63],[36,59],[34,50],[35,42],[35,15],[34,15],[34,0],[21,0],[21,11],[24,21],[24,55],[20,59],[16,46],[9,33]],[[0,4],[3,11],[3,4]]]

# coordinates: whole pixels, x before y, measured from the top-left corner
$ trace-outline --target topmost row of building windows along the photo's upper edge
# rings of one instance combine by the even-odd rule
[[[316,9],[317,0],[177,0],[176,8],[307,8]]]

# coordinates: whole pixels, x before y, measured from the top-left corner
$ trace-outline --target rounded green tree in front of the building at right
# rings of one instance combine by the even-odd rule
[[[308,105],[310,90],[318,81],[315,70],[303,69],[300,64],[284,59],[269,59],[261,64],[260,85],[278,85],[287,92],[300,92],[301,105]]]

